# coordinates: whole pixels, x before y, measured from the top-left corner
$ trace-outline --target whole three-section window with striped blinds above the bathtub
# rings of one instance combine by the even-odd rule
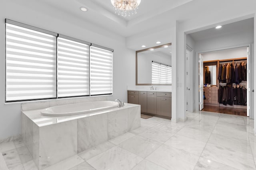
[[[113,50],[6,20],[6,102],[112,94]]]

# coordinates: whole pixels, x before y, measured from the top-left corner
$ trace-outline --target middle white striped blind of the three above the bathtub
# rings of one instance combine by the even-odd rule
[[[58,97],[90,94],[89,47],[58,37]]]

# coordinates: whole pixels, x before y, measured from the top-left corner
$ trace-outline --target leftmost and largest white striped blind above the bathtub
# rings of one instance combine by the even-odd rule
[[[56,36],[6,23],[6,102],[56,97]]]

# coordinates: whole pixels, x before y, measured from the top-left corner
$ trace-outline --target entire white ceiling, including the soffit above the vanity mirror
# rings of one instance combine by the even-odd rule
[[[34,9],[44,9],[46,12],[55,10],[65,12],[80,20],[80,25],[85,27],[87,23],[111,32],[114,35],[126,38],[126,46],[133,50],[143,49],[141,45],[156,46],[156,41],[162,44],[171,43],[170,30],[176,21],[191,21],[203,18],[202,14],[210,16],[233,14],[238,10],[251,11],[255,9],[255,0],[141,0],[137,14],[123,18],[115,14],[110,0],[12,0],[22,5],[31,6]],[[221,5],[220,5],[221,4]],[[82,12],[80,7],[88,8],[88,12]],[[52,13],[52,14],[55,14]],[[249,13],[250,14],[250,13]],[[208,15],[209,16],[209,15]],[[245,21],[246,22],[246,21]],[[252,26],[251,22],[248,21]],[[242,30],[244,25],[234,23],[215,30],[214,28],[191,34],[195,41],[221,36],[230,32]],[[245,26],[245,27],[246,27]],[[98,29],[99,30],[99,29]],[[217,33],[217,34],[216,34]],[[150,36],[148,36],[150,35]],[[153,35],[153,36],[152,36]]]

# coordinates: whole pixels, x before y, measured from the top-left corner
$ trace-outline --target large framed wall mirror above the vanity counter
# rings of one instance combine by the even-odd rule
[[[172,84],[172,43],[136,51],[136,85]]]

